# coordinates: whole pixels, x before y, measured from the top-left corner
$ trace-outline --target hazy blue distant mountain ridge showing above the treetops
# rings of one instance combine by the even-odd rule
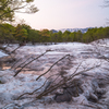
[[[71,33],[77,32],[77,31],[81,31],[82,33],[86,33],[88,28],[93,28],[93,27],[86,27],[86,28],[61,28],[61,29],[51,29],[51,31],[53,33],[58,33],[59,31],[61,31],[62,33],[64,33],[65,31],[69,31]]]

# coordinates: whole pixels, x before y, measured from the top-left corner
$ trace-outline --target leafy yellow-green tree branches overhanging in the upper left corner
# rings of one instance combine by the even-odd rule
[[[0,22],[12,22],[15,12],[35,13],[38,9],[32,4],[34,0],[0,0]]]

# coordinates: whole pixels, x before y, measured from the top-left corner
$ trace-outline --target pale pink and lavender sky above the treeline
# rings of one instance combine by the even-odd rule
[[[35,0],[34,4],[38,12],[16,16],[39,31],[107,26],[109,19],[109,8],[102,8],[104,0]]]

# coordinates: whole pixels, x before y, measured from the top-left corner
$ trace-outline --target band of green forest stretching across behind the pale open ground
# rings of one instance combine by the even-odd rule
[[[10,43],[90,43],[97,39],[109,38],[109,26],[107,27],[94,27],[88,28],[86,33],[78,32],[69,32],[61,31],[55,33],[52,29],[33,29],[27,24],[17,24],[13,26],[8,23],[0,24],[0,43],[10,44]]]

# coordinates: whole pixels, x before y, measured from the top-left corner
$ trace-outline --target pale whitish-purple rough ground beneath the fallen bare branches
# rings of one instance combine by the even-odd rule
[[[8,50],[12,51],[16,47],[14,45],[9,47]],[[43,57],[31,62],[47,50],[48,52]],[[53,63],[66,55],[70,57],[62,59],[52,66]],[[49,46],[24,46],[11,55],[11,58],[4,58],[4,60],[12,58],[13,61],[5,61],[11,69],[0,71],[0,108],[109,109],[108,43],[106,46],[102,46],[102,44],[95,45],[95,43],[88,45],[70,43]],[[31,63],[27,64],[28,62]],[[22,71],[14,77],[15,72],[21,68],[23,68]],[[48,70],[49,72],[44,74]],[[36,81],[40,74],[44,75]],[[58,77],[55,74],[61,74],[65,77],[70,77],[72,74],[76,75],[65,86],[36,99],[36,96],[47,88],[48,83]],[[24,95],[16,100],[20,95],[39,88],[49,76],[51,76],[50,80],[37,93]],[[59,76],[53,85],[62,78],[62,76]]]

